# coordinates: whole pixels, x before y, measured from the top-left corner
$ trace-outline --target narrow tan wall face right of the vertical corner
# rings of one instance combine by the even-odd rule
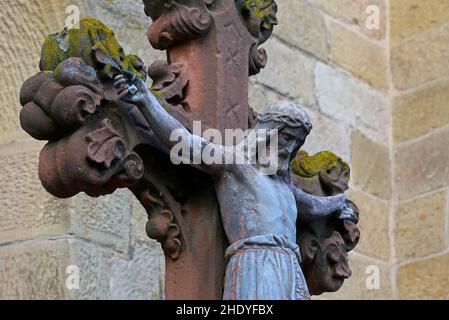
[[[390,20],[396,295],[449,299],[449,2],[392,1]]]

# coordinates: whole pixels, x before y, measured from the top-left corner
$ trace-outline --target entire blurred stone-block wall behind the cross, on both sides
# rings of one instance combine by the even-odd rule
[[[3,1],[0,298],[160,299],[163,254],[145,235],[137,201],[126,190],[53,198],[37,174],[43,144],[18,122],[21,84],[73,4],[147,65],[164,57],[147,41],[151,21],[140,1]],[[351,164],[349,195],[361,211],[353,276],[319,298],[448,299],[449,2],[278,4],[279,26],[264,45],[269,63],[251,79],[250,103],[259,112],[279,99],[307,107],[314,130],[305,150],[331,150]],[[67,289],[70,265],[80,268],[79,290]]]

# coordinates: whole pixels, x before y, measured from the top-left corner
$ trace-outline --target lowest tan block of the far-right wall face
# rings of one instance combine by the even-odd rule
[[[449,254],[399,267],[400,299],[449,299]]]

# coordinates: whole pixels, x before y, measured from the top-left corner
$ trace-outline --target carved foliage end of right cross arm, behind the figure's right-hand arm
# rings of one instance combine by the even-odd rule
[[[309,156],[300,151],[292,161],[297,187],[317,196],[333,196],[348,189],[350,169],[331,152]],[[359,211],[347,200],[346,209],[325,219],[300,221],[297,242],[310,293],[335,292],[351,276],[348,252],[357,245]]]

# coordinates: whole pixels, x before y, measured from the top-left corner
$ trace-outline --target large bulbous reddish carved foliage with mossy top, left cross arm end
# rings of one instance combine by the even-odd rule
[[[39,159],[47,191],[61,198],[82,191],[99,196],[139,181],[143,162],[108,79],[123,70],[144,77],[137,70],[145,70],[141,60],[125,55],[101,22],[83,19],[80,29],[46,39],[40,67],[45,71],[22,86],[20,121],[32,137],[49,140]]]

